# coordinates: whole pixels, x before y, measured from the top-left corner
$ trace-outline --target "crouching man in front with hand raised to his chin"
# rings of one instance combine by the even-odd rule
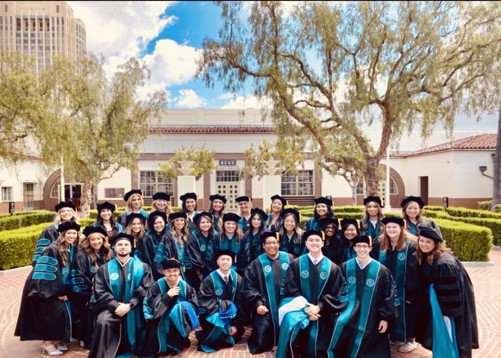
[[[144,318],[150,326],[143,351],[179,353],[189,347],[188,334],[199,325],[196,292],[181,279],[181,262],[168,258],[161,264],[165,277],[154,282],[144,297]]]

